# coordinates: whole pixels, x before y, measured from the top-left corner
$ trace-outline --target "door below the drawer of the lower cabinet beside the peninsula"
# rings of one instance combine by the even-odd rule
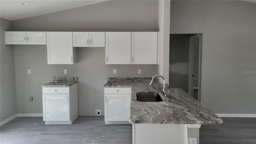
[[[105,94],[105,121],[129,121],[130,94]]]

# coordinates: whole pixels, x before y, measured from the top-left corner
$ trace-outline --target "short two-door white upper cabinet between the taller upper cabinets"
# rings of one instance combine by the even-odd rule
[[[74,47],[105,47],[105,32],[73,32]]]

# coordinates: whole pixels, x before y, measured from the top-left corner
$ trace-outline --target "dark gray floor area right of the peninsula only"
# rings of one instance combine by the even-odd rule
[[[223,124],[202,125],[200,144],[256,144],[256,118],[222,118]]]

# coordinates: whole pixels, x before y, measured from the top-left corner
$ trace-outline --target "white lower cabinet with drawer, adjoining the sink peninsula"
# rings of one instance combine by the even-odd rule
[[[105,124],[130,124],[131,88],[105,88]]]

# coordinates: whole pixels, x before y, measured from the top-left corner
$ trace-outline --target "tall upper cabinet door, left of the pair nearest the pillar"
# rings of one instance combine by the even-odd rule
[[[131,64],[131,32],[106,32],[106,64]]]

